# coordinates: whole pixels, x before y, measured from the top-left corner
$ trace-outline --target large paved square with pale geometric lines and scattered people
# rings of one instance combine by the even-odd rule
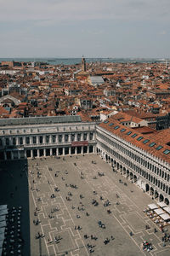
[[[23,250],[26,252],[26,247],[30,246],[31,256],[144,255],[148,254],[141,250],[144,240],[152,242],[154,250],[150,255],[170,255],[170,243],[167,242],[166,247],[162,247],[161,231],[143,212],[153,202],[150,196],[121,174],[112,172],[111,166],[98,155],[65,156],[65,160],[28,160],[27,170],[20,177],[24,164],[22,161],[8,162],[5,166],[6,173],[2,172],[4,181],[8,179],[7,183],[11,180],[14,185],[18,185],[18,194],[14,195],[14,201],[8,196],[8,191],[11,188],[13,190],[14,185],[8,185],[8,188],[3,185],[0,192],[6,191],[3,202],[6,198],[8,204],[22,204],[24,208],[23,224],[28,227],[30,223],[30,245],[27,231],[28,242]],[[99,177],[99,172],[104,172],[105,176]],[[11,174],[13,178],[10,177]],[[120,178],[127,186],[119,183]],[[27,180],[27,190],[23,190]],[[27,195],[21,195],[26,191]],[[97,202],[96,206],[92,204],[93,200]],[[25,210],[26,201],[29,201],[29,207]],[[106,201],[110,201],[111,205],[104,207]],[[111,213],[107,210],[111,210]],[[40,223],[33,224],[37,218]],[[99,221],[105,224],[105,229],[99,227]],[[149,224],[151,229],[145,230],[145,224]],[[155,227],[158,230],[156,234]],[[129,236],[130,231],[133,236]],[[25,236],[24,229],[22,232]],[[36,239],[38,232],[44,237]],[[91,236],[96,239],[91,239]],[[111,236],[114,237],[113,240]],[[110,242],[105,245],[106,238]]]

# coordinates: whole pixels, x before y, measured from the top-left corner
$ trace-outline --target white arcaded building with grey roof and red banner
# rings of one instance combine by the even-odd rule
[[[79,116],[0,119],[0,127],[1,160],[95,152],[96,124]]]

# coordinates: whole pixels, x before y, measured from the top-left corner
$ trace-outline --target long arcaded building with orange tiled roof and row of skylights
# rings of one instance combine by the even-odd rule
[[[111,122],[107,125],[111,125]],[[107,129],[104,123],[96,127],[96,143],[97,153],[111,164],[113,171],[121,172],[144,192],[148,192],[153,199],[157,198],[169,204],[169,146],[162,146],[158,141],[154,143],[144,135],[122,125],[115,124],[112,129],[111,126]],[[159,150],[162,150],[160,157],[154,154],[154,151]]]

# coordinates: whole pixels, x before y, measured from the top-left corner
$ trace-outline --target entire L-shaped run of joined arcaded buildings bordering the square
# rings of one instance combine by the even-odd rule
[[[170,146],[156,134],[80,116],[0,119],[0,160],[97,153],[153,199],[170,201]],[[159,135],[159,133],[158,133]]]

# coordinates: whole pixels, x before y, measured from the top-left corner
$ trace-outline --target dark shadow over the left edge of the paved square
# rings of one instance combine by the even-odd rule
[[[0,205],[8,207],[2,255],[30,255],[27,172],[27,160],[4,160],[0,163]]]

